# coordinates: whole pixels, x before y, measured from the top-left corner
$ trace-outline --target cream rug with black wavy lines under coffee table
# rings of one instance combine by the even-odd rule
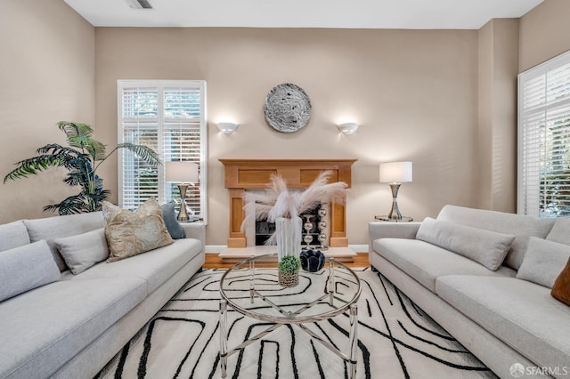
[[[493,373],[430,319],[387,278],[356,270],[358,378],[494,378]],[[220,378],[218,282],[203,270],[183,286],[97,378]],[[228,307],[230,349],[265,329]],[[312,326],[342,351],[348,316]],[[346,378],[346,363],[298,327],[280,327],[228,359],[228,378]]]

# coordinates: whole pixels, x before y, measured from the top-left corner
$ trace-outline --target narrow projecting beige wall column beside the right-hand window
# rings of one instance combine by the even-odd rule
[[[516,212],[518,19],[479,29],[477,206]]]

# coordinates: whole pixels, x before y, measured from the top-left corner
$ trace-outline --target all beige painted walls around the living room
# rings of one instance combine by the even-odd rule
[[[100,140],[116,143],[117,79],[204,79],[209,245],[225,244],[228,233],[220,157],[357,158],[350,244],[365,244],[367,222],[389,209],[382,161],[414,162],[400,207],[417,220],[444,204],[511,210],[515,41],[521,71],[570,49],[569,13],[566,0],[546,0],[520,19],[518,34],[516,20],[480,31],[93,28],[62,0],[4,0],[1,172],[45,143],[64,143],[54,126],[61,119],[94,123]],[[287,82],[305,88],[314,107],[292,134],[273,131],[262,109],[266,93]],[[218,133],[216,123],[228,120],[238,132]],[[335,125],[346,121],[361,128],[340,135]],[[101,173],[116,199],[116,160]],[[62,177],[1,185],[0,222],[49,215],[41,208],[71,193]]]

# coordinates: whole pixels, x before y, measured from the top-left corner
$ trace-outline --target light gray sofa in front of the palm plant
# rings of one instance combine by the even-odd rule
[[[72,274],[54,240],[103,227],[101,212],[0,225],[0,378],[93,377],[204,263],[204,225],[187,223],[171,245]]]

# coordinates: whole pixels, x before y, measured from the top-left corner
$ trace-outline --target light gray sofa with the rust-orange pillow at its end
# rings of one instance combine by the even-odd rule
[[[371,266],[496,375],[524,367],[524,377],[570,377],[570,306],[550,295],[557,273],[544,268],[564,268],[570,219],[444,206],[436,220],[371,222],[369,235]],[[477,247],[499,251],[498,241],[507,255],[489,270],[498,255]]]

